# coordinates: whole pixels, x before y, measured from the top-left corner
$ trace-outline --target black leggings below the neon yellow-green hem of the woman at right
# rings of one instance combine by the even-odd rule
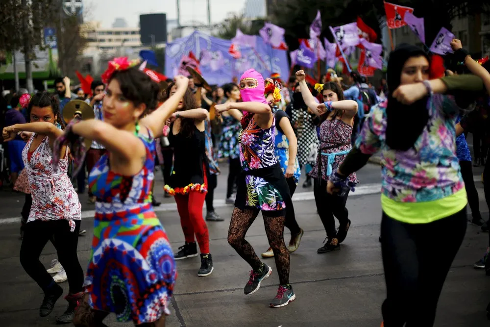
[[[385,327],[432,327],[447,272],[466,232],[466,208],[429,224],[407,224],[383,213],[381,253]]]

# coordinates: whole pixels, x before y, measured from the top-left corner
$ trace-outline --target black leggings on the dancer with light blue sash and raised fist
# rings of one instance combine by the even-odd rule
[[[343,197],[328,194],[327,182],[323,179],[319,181],[316,178],[313,183],[313,195],[315,196],[318,214],[321,223],[327,232],[328,239],[331,240],[337,238],[334,216],[339,220],[340,224],[347,225],[349,211],[345,207],[345,203],[347,202],[349,192]]]

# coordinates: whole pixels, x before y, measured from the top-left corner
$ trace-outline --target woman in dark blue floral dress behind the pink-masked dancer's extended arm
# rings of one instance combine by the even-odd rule
[[[240,100],[240,89],[234,83],[223,85],[223,91],[228,98],[225,103],[235,103]],[[238,149],[238,136],[242,129],[240,119],[242,113],[237,111],[224,112],[221,123],[221,138],[219,143],[218,158],[229,159],[228,184],[226,186],[226,203],[233,204],[233,188],[241,171],[240,151]]]

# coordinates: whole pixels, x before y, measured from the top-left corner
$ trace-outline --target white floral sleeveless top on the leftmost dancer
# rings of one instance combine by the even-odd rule
[[[36,219],[44,221],[66,219],[73,231],[75,229],[73,220],[81,219],[81,204],[67,175],[68,153],[60,160],[57,167],[53,167],[53,152],[49,148],[49,138],[46,136],[28,159],[28,151],[35,135],[31,136],[22,151],[22,160],[32,194],[32,207],[27,223]]]

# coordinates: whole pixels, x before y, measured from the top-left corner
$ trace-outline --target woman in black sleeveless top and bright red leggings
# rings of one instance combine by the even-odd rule
[[[167,88],[168,97],[178,91],[177,85]],[[209,253],[208,226],[202,217],[202,206],[207,192],[207,157],[204,122],[206,109],[197,108],[192,91],[185,92],[178,103],[177,112],[170,117],[169,139],[174,147],[174,163],[169,185],[165,191],[177,203],[185,244],[175,253],[175,260],[197,256],[196,239],[201,252],[201,267],[197,276],[210,275],[213,259]]]

